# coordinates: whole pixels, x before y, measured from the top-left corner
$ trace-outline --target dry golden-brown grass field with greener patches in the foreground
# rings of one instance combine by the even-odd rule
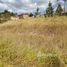
[[[0,24],[0,67],[44,67],[48,55],[57,55],[67,64],[67,17]]]

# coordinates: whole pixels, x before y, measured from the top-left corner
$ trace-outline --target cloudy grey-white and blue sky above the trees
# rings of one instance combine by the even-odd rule
[[[53,7],[56,8],[56,0],[0,0],[0,11],[8,9],[16,13],[33,12],[37,7],[41,11],[47,8],[48,2],[51,1]],[[63,0],[59,0],[63,6]]]

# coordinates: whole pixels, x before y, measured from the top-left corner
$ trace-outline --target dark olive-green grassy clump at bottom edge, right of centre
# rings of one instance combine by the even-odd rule
[[[65,64],[57,56],[47,56],[44,67],[65,67]]]

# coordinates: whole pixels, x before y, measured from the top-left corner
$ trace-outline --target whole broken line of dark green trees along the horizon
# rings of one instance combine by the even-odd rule
[[[49,1],[48,7],[46,8],[46,13],[44,13],[44,16],[45,17],[52,17],[54,15],[61,16],[63,13],[65,14],[66,13],[66,11],[65,11],[65,2],[66,1],[67,0],[64,0],[64,9],[62,9],[61,4],[58,3],[58,0],[57,0],[57,8],[56,8],[55,11],[54,11],[54,8],[52,7],[52,3]],[[41,13],[40,9],[37,7],[37,9],[35,11],[35,14],[30,13],[28,16],[29,17],[32,17],[32,16],[34,16],[34,17],[41,16],[40,13]],[[0,23],[10,20],[11,16],[16,16],[16,14],[13,13],[13,12],[9,12],[8,10],[4,10],[4,12],[0,13]]]

